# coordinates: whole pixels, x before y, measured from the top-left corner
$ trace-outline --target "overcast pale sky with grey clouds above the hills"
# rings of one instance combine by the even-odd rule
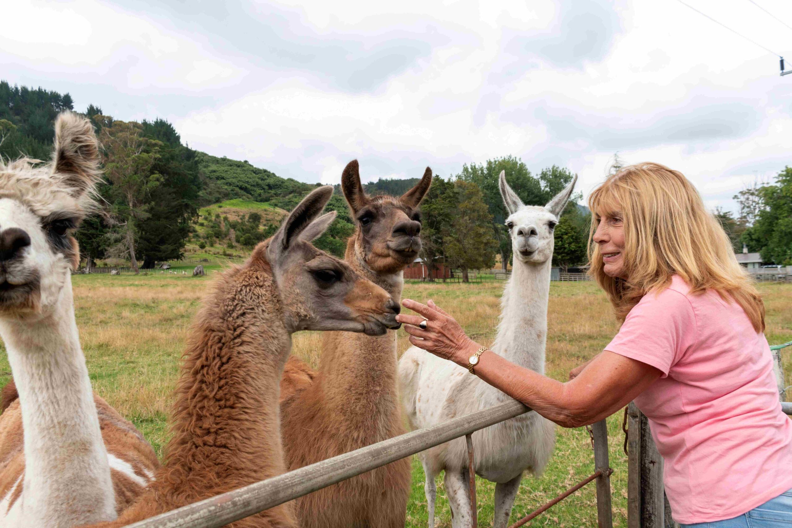
[[[686,0],[781,55],[748,0]],[[299,5],[297,5],[299,3]],[[756,0],[792,25],[792,2]],[[512,154],[588,192],[618,151],[710,207],[792,165],[792,75],[678,0],[5,2],[0,78],[283,177],[447,177]]]

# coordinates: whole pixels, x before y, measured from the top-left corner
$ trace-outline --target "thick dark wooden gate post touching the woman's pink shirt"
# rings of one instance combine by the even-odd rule
[[[676,528],[665,498],[663,458],[649,432],[649,420],[632,402],[627,424],[627,528]]]

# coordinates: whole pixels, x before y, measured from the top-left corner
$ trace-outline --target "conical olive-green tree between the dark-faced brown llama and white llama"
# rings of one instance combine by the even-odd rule
[[[462,280],[466,283],[468,270],[492,268],[495,264],[497,240],[493,235],[493,217],[478,185],[456,180],[453,192],[455,214],[443,242],[447,262],[462,269]]]

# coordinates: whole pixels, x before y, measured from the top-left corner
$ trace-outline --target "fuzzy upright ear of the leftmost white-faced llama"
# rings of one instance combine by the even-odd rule
[[[62,178],[73,196],[93,190],[101,177],[99,142],[89,120],[63,112],[55,120],[54,176]]]

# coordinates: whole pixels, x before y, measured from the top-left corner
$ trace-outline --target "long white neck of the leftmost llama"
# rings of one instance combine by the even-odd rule
[[[82,354],[70,279],[37,321],[2,321],[25,428],[22,507],[29,526],[116,518],[110,467]]]

